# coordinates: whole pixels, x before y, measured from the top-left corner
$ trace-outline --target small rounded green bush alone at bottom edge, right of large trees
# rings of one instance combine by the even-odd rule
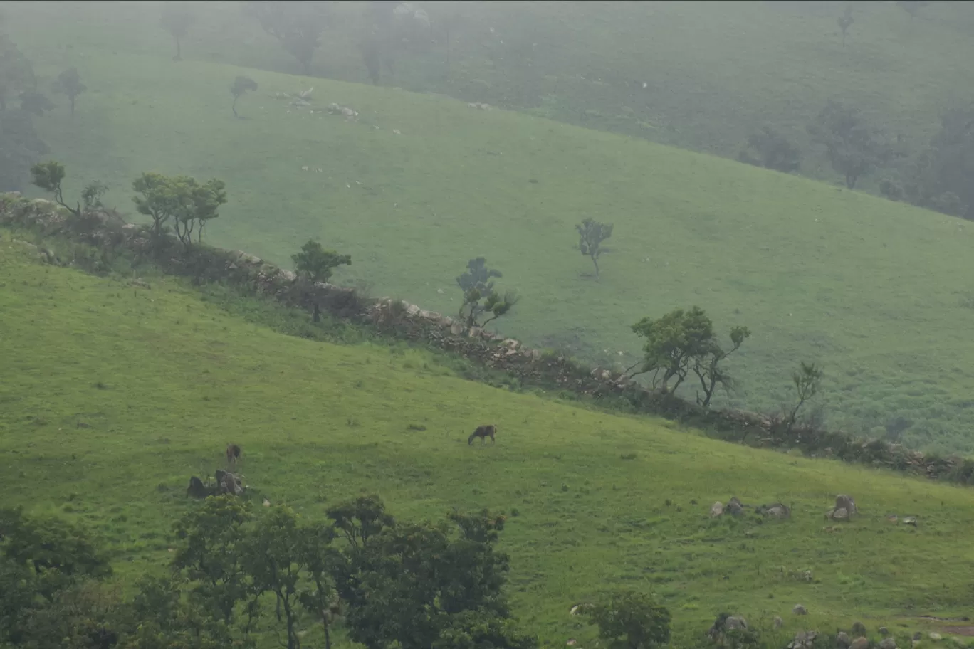
[[[644,593],[614,593],[592,606],[588,616],[614,649],[651,649],[669,642],[669,610]]]

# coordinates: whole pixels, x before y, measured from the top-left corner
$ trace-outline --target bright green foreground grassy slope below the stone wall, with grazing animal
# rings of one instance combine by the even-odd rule
[[[188,477],[233,441],[251,487],[311,516],[360,490],[405,518],[505,510],[511,595],[546,646],[584,644],[569,608],[623,584],[664,598],[676,646],[720,610],[905,632],[923,624],[908,616],[966,606],[966,490],[511,394],[419,352],[282,337],[169,280],[145,290],[42,266],[9,234],[0,276],[0,499],[94,524],[126,575],[168,559]],[[486,420],[497,445],[468,447]],[[863,514],[830,531],[836,492]],[[793,519],[711,521],[731,494],[791,503]]]

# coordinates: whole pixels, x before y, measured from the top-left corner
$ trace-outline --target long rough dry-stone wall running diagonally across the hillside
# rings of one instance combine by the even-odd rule
[[[389,298],[364,298],[354,289],[335,284],[312,285],[291,270],[241,251],[205,245],[185,250],[171,236],[154,240],[146,226],[127,223],[116,213],[87,214],[79,219],[49,200],[8,194],[0,195],[0,225],[84,242],[102,256],[130,254],[136,263],[151,262],[165,272],[190,277],[197,283],[229,283],[245,293],[287,306],[311,310],[317,303],[336,317],[373,327],[390,337],[459,354],[516,377],[522,384],[584,395],[595,402],[612,399],[616,406],[677,419],[722,440],[754,447],[800,449],[811,456],[882,466],[964,485],[974,483],[972,460],[927,456],[882,440],[854,439],[843,432],[788,427],[767,415],[704,410],[673,395],[647,389],[618,372],[587,368],[562,356],[543,354],[513,339],[467,327],[450,316],[417,305]],[[60,263],[49,251],[39,250],[38,254],[43,261]]]

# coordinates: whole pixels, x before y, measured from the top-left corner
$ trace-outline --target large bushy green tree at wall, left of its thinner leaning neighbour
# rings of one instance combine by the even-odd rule
[[[646,343],[643,359],[637,364],[640,369],[631,376],[654,372],[657,378],[661,372],[664,392],[672,379],[676,382],[670,391],[675,391],[687,378],[694,360],[713,350],[713,322],[698,306],[689,311],[678,308],[656,320],[645,317],[632,325],[632,331]]]

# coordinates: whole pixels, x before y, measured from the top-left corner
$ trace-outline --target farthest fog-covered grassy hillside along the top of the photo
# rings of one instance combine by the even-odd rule
[[[7,4],[11,24],[31,39],[171,55],[158,25],[161,3]],[[844,47],[837,25],[844,0],[414,4],[430,14],[431,46],[401,54],[388,86],[731,158],[748,135],[774,126],[806,149],[803,173],[820,178],[834,175],[808,150],[805,126],[828,98],[862,108],[874,126],[916,150],[947,106],[971,100],[974,83],[962,63],[974,58],[974,11],[964,2],[934,2],[916,18],[895,2],[853,2]],[[300,69],[244,17],[241,3],[194,3],[193,11],[187,58]],[[367,83],[359,53],[365,15],[366,3],[336,3],[315,75]]]

